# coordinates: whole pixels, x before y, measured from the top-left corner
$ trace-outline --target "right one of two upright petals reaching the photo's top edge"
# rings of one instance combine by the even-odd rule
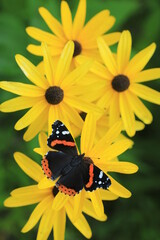
[[[86,0],[79,1],[78,9],[73,21],[72,37],[76,39],[83,28],[86,18]]]

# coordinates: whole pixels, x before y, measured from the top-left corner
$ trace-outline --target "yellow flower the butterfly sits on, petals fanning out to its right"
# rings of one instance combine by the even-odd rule
[[[93,163],[98,166],[103,172],[119,172],[124,174],[132,174],[138,170],[138,167],[130,162],[119,162],[117,156],[126,151],[132,146],[133,142],[128,139],[117,140],[121,132],[122,124],[121,121],[116,123],[110,128],[101,140],[95,143],[96,134],[96,117],[89,113],[85,119],[85,123],[81,134],[81,146],[80,152],[85,153],[85,158],[91,159]],[[45,139],[45,141],[44,141]],[[46,147],[47,136],[41,134],[39,136],[39,142],[41,148],[36,148],[35,151],[42,156],[48,151],[51,151]],[[96,215],[101,218],[104,215],[104,207],[102,200],[113,200],[116,196],[129,198],[131,196],[130,191],[124,188],[111,176],[111,186],[108,190],[96,189],[96,191],[85,191],[84,189],[74,197],[74,204],[76,213],[75,216],[82,211],[85,204],[84,199],[90,199],[92,206],[96,212]],[[45,188],[46,179],[40,183],[41,188]],[[111,194],[111,195],[110,195]]]

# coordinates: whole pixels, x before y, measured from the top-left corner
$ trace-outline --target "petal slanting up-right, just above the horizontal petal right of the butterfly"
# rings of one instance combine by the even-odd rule
[[[132,142],[129,139],[122,139],[107,147],[105,151],[100,153],[100,156],[104,159],[104,161],[107,161],[119,156],[131,146]]]

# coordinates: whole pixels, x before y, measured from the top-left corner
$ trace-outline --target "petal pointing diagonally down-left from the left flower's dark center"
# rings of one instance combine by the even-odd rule
[[[45,99],[36,103],[22,118],[18,120],[15,125],[15,129],[21,130],[30,125],[47,107]]]

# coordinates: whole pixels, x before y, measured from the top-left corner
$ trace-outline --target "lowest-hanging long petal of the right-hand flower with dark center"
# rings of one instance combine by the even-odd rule
[[[135,117],[125,93],[120,93],[120,113],[127,134],[133,137],[135,135]]]

